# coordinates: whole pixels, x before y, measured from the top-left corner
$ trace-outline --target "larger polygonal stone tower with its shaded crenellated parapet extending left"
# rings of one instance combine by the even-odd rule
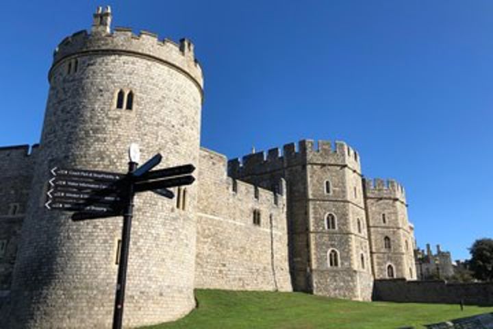
[[[335,147],[334,147],[335,146]],[[229,161],[229,175],[288,186],[293,287],[317,295],[370,300],[372,273],[360,159],[346,145],[301,141]]]

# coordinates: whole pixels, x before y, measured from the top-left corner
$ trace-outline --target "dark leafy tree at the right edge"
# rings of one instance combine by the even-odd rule
[[[472,243],[470,269],[481,281],[493,281],[493,239],[479,239]]]

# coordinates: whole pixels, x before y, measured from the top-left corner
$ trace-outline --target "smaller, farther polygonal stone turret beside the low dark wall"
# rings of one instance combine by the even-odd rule
[[[414,227],[403,186],[379,178],[365,180],[364,186],[375,278],[416,279]]]

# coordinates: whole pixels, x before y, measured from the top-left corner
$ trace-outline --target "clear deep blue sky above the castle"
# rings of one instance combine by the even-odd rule
[[[106,4],[194,41],[205,147],[343,140],[405,185],[420,246],[493,236],[492,1],[2,1],[0,145],[38,141],[53,49]]]

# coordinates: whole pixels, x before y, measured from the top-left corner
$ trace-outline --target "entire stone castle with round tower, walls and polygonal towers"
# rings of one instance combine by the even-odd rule
[[[416,279],[403,186],[366,180],[345,143],[301,141],[227,160],[200,146],[203,75],[188,39],[110,29],[55,49],[39,145],[0,148],[1,328],[107,328],[121,217],[49,211],[53,167],[121,171],[127,147],[192,163],[175,199],[136,197],[125,326],[186,315],[194,289],[306,291],[371,300],[379,278]]]

